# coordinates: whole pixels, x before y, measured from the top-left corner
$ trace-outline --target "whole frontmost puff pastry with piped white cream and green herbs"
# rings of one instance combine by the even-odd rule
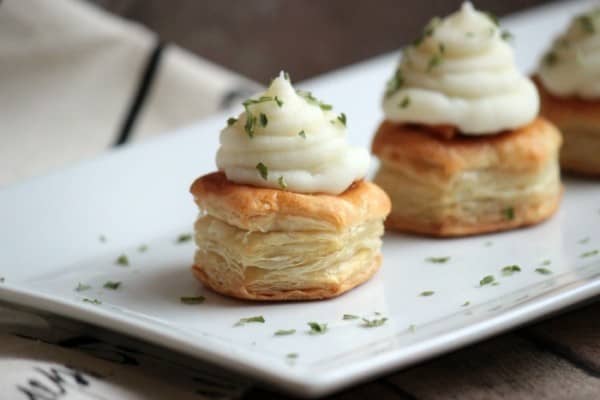
[[[368,280],[390,200],[364,180],[369,154],[347,144],[345,114],[283,73],[243,105],[221,132],[219,171],[190,189],[195,276],[250,300],[324,299]]]

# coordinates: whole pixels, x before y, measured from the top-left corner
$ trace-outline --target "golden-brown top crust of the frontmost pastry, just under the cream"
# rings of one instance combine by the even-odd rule
[[[222,172],[198,178],[190,189],[201,210],[248,231],[341,231],[385,218],[388,196],[357,181],[340,195],[300,194],[230,182]]]

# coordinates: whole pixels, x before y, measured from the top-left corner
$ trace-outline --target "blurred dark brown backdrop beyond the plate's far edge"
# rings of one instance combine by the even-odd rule
[[[396,50],[461,0],[92,0],[161,39],[259,82],[281,68],[295,80]],[[549,3],[478,0],[503,16]]]

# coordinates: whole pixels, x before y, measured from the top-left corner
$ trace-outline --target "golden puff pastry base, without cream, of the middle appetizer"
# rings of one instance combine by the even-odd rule
[[[375,183],[393,204],[389,228],[460,236],[538,223],[561,193],[558,130],[543,118],[497,135],[445,138],[383,122],[373,141]]]

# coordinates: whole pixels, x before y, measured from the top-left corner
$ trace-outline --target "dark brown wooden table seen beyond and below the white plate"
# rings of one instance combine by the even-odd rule
[[[96,0],[257,81],[308,78],[399,48],[458,1]],[[504,15],[540,0],[479,0]],[[518,38],[517,38],[518,40]],[[394,372],[334,399],[600,399],[600,303]],[[255,389],[247,399],[281,399]]]

